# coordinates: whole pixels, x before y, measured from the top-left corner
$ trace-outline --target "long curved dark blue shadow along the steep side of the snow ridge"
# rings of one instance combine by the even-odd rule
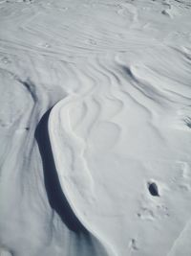
[[[59,183],[48,132],[48,119],[50,111],[51,110],[44,114],[35,130],[35,139],[38,143],[38,148],[42,158],[44,181],[49,202],[53,210],[60,216],[61,220],[68,226],[69,229],[77,233],[87,233],[87,229],[75,217],[74,212],[67,198],[62,192]]]

